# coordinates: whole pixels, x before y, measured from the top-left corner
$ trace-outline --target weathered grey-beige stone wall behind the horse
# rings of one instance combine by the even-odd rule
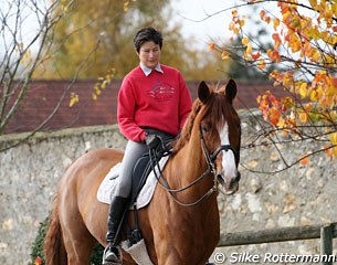
[[[253,119],[242,123],[245,146],[259,130]],[[0,149],[27,135],[0,138]],[[65,168],[88,149],[123,149],[125,139],[117,126],[86,127],[36,134],[25,144],[0,152],[0,264],[30,264],[32,242],[48,215],[55,186]],[[277,146],[288,161],[305,153],[315,142]],[[222,233],[337,221],[336,162],[324,153],[307,166],[282,171],[283,160],[273,146],[242,149],[240,191],[219,197]],[[260,173],[254,171],[275,171]],[[221,248],[250,253],[319,253],[318,241],[287,242]],[[20,255],[18,255],[20,254]]]

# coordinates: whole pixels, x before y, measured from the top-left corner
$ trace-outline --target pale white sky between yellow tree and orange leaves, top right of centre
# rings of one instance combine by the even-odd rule
[[[187,38],[196,38],[194,46],[198,49],[208,49],[211,40],[215,43],[228,42],[232,36],[229,30],[232,10],[242,4],[244,4],[242,0],[171,0],[173,17],[181,23],[182,34]],[[241,7],[238,10],[241,15],[256,18],[260,18],[260,10],[263,8],[273,14],[278,13],[278,8],[273,2],[259,3],[254,7],[257,8],[256,11],[252,11],[252,6]],[[245,30],[254,30],[253,22],[249,23],[246,20]]]

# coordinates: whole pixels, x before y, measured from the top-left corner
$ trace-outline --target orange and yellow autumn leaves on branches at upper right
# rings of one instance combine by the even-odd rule
[[[337,123],[337,1],[277,1],[277,7],[278,13],[266,7],[257,13],[271,32],[271,47],[259,49],[255,40],[243,38],[244,57],[256,61],[261,70],[275,65],[277,70],[270,78],[276,89],[295,94],[294,98],[302,103],[275,98],[266,92],[257,97],[263,118],[281,128],[284,135],[299,135],[303,128],[319,123],[318,128],[326,127],[322,138],[329,141],[326,153],[337,157],[337,132],[329,131],[336,130]],[[285,112],[289,108],[291,112]],[[306,155],[299,163],[308,161]]]

